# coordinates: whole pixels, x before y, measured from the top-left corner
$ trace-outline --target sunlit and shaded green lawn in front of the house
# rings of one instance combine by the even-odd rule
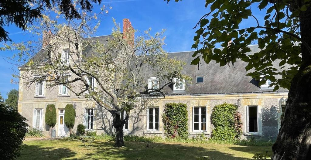
[[[96,141],[94,147],[80,147],[80,141],[58,140],[24,141],[26,146],[19,159],[251,159],[255,153],[272,153],[271,146],[253,147],[231,144],[143,143],[126,141],[126,147],[114,148],[114,142]]]

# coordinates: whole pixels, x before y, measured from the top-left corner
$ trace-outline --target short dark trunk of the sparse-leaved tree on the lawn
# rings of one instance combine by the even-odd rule
[[[124,145],[123,141],[123,126],[124,122],[121,120],[120,114],[115,112],[113,115],[113,126],[116,129],[116,139],[114,147],[122,147]]]

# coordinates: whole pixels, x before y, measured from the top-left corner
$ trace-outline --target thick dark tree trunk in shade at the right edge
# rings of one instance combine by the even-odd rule
[[[294,1],[296,2],[296,1]],[[301,39],[311,46],[310,8],[300,14]],[[291,81],[273,160],[311,159],[311,53],[301,46],[302,63]]]

